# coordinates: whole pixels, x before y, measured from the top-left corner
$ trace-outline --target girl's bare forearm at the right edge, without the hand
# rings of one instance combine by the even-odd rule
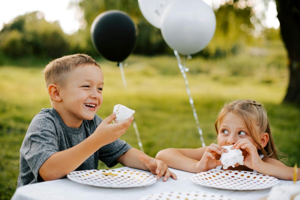
[[[263,157],[262,162],[255,169],[257,172],[274,176],[282,180],[292,181],[294,177],[294,168],[285,166],[279,160],[269,157]],[[300,169],[298,168],[297,181],[300,180]]]

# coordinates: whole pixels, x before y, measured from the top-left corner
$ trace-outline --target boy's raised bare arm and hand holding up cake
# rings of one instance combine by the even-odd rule
[[[124,122],[111,124],[114,118],[115,114],[111,114],[104,119],[95,132],[78,145],[52,154],[39,169],[41,178],[49,181],[66,176],[102,146],[121,137],[131,125],[133,117]]]

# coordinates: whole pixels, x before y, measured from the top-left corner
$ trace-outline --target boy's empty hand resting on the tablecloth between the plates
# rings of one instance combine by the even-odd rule
[[[173,178],[174,180],[177,179],[176,174],[171,172],[167,164],[162,160],[144,155],[140,155],[139,159],[146,164],[147,168],[152,174],[157,174],[157,180],[159,180],[162,176],[164,176],[163,181],[167,181],[169,177]]]

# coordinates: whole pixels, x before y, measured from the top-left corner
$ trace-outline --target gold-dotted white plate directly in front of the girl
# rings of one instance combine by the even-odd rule
[[[261,190],[273,187],[279,180],[273,176],[235,170],[212,170],[193,175],[199,185],[226,190]]]

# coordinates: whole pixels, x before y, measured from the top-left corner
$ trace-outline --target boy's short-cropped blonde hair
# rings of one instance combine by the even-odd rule
[[[52,60],[44,69],[44,76],[46,80],[46,87],[50,84],[56,84],[63,87],[66,80],[76,67],[84,64],[99,64],[91,56],[86,54],[74,54]]]

